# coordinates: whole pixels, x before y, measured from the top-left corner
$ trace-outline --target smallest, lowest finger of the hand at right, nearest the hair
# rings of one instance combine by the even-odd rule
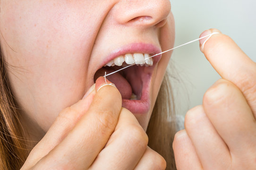
[[[203,170],[186,130],[175,134],[172,147],[177,170]]]

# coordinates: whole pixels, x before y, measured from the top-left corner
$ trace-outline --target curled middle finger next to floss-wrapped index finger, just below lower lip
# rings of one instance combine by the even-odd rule
[[[135,116],[122,108],[119,121],[91,170],[133,170],[145,152],[148,137]]]

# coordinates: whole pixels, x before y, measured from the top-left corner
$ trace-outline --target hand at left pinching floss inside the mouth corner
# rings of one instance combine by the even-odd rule
[[[106,85],[97,92],[104,84],[98,78],[91,93],[60,112],[21,170],[165,169],[135,116],[122,108],[118,89]]]

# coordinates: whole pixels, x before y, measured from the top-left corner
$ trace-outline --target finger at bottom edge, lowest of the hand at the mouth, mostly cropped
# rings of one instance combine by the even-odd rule
[[[134,170],[165,170],[166,161],[153,149],[147,146],[145,153]]]

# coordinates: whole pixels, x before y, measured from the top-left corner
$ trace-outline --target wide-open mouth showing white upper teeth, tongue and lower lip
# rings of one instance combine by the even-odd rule
[[[158,52],[158,51],[157,51]],[[133,114],[144,114],[150,110],[150,82],[156,63],[161,55],[149,58],[154,53],[126,53],[111,57],[103,63],[103,67],[98,69],[94,75],[94,82],[99,76],[104,76],[131,64],[134,66],[120,70],[119,72],[107,76],[116,85],[122,96],[122,106],[130,110]],[[149,58],[149,59],[148,59]]]

